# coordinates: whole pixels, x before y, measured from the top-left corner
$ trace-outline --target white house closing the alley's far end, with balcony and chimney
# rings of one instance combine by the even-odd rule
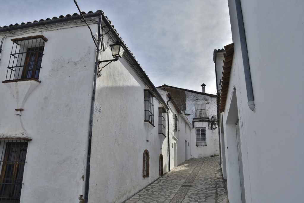
[[[205,84],[202,85],[202,92],[166,84],[157,88],[171,93],[178,107],[192,124],[194,130],[191,133],[191,158],[219,155],[216,95],[205,93]],[[212,117],[214,123],[210,122]]]

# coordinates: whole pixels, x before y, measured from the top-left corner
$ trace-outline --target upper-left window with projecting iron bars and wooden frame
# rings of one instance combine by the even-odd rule
[[[36,35],[11,40],[13,46],[5,81],[38,80],[47,38],[43,35]]]

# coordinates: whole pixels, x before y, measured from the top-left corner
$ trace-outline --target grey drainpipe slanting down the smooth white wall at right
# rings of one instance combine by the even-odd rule
[[[248,107],[250,108],[250,110],[255,112],[249,58],[248,58],[248,51],[247,51],[247,42],[246,42],[246,35],[245,35],[244,21],[243,21],[243,14],[242,14],[242,7],[241,7],[240,0],[235,0],[235,5],[236,5],[236,9],[237,9],[237,24],[239,26],[239,33],[240,33],[240,43],[241,43],[243,66],[244,66],[244,73],[245,73]]]

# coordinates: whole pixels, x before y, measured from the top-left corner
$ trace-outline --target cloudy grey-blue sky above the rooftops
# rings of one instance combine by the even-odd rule
[[[155,86],[216,93],[213,50],[232,43],[227,0],[78,0],[102,10]],[[78,13],[74,0],[5,0],[0,26]],[[89,30],[88,35],[90,36]]]

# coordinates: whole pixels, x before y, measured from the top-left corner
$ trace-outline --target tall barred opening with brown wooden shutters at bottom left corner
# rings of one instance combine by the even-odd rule
[[[0,140],[0,202],[20,202],[27,140]]]

